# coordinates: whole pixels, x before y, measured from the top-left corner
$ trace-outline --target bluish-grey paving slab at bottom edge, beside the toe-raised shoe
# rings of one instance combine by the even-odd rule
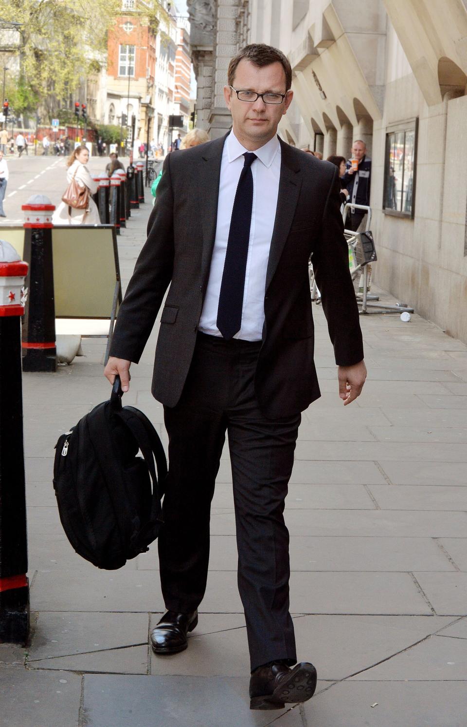
[[[300,711],[249,709],[248,676],[84,676],[86,727],[303,727]]]

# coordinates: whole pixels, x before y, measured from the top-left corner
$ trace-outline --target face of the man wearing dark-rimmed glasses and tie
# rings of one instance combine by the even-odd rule
[[[232,84],[237,91],[285,94],[285,71],[277,61],[259,68],[243,58],[237,65]],[[266,144],[277,133],[277,124],[291,105],[293,92],[289,91],[283,103],[254,103],[240,101],[230,86],[224,86],[224,98],[232,113],[233,131],[240,143],[250,150]]]

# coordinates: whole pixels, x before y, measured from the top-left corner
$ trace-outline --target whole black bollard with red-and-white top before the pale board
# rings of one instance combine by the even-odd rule
[[[25,240],[23,257],[29,271],[29,290],[23,319],[23,371],[57,371],[55,349],[54,270],[52,264],[52,212],[44,195],[23,204]]]

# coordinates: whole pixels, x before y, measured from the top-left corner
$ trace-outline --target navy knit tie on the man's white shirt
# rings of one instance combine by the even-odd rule
[[[242,326],[243,291],[245,289],[246,259],[250,241],[251,210],[253,209],[253,174],[251,164],[256,154],[246,151],[245,164],[235,192],[229,239],[222,273],[216,325],[222,336],[230,340]]]

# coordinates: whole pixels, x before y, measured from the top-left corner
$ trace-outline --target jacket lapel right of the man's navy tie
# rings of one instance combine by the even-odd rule
[[[274,277],[280,256],[282,255],[285,241],[287,240],[293,222],[297,202],[299,201],[301,188],[299,161],[291,153],[291,147],[281,139],[279,141],[281,148],[279,194],[277,196],[276,217],[274,229],[272,230],[269,262],[267,264],[266,289],[268,289]]]

